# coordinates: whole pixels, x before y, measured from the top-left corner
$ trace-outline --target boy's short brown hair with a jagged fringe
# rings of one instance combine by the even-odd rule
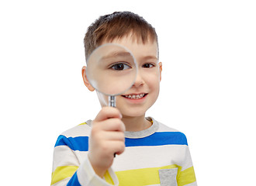
[[[157,41],[154,27],[133,12],[113,12],[100,16],[88,27],[85,34],[85,58],[87,59],[103,41],[112,42],[129,34],[132,34],[134,40],[137,39],[139,43]]]

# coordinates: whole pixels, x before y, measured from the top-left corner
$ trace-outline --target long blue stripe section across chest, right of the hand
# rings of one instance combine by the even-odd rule
[[[188,143],[185,134],[180,132],[158,132],[140,139],[126,138],[126,146],[163,145],[188,145]]]

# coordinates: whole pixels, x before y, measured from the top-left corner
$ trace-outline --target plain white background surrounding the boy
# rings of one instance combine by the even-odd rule
[[[184,132],[198,184],[254,185],[254,1],[0,2],[1,182],[50,185],[54,143],[93,119],[83,37],[106,13],[128,10],[157,30],[161,94],[147,115]]]

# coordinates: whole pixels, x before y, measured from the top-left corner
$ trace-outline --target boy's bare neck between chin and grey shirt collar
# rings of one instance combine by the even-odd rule
[[[145,115],[130,117],[124,116],[122,119],[124,125],[126,126],[126,131],[137,132],[144,129],[148,129],[152,123],[145,119]]]

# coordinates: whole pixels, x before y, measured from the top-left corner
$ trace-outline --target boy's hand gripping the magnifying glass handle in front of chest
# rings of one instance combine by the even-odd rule
[[[117,108],[103,107],[92,122],[88,158],[99,177],[111,167],[114,154],[125,149],[122,115]]]

